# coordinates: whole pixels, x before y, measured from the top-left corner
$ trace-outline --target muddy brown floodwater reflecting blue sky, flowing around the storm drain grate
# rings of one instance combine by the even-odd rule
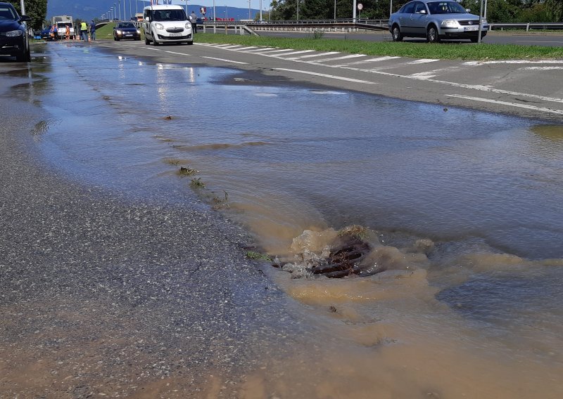
[[[265,266],[334,340],[257,370],[244,395],[562,397],[563,126],[53,48],[44,63],[70,68],[44,72],[37,142],[68,174],[156,199],[200,178],[294,270],[368,229],[382,273]]]

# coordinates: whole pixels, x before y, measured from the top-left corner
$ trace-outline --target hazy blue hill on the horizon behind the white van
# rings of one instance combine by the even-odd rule
[[[82,20],[101,19],[101,16],[108,13],[114,3],[117,3],[117,0],[49,0],[47,2],[47,19],[51,19],[53,15],[72,15],[73,18],[80,18]],[[162,3],[162,0],[160,3]],[[191,3],[191,1],[188,1],[188,3]],[[182,0],[172,0],[172,4],[181,4],[184,6],[185,2]],[[146,5],[146,3],[143,1],[125,1],[125,13],[124,10],[120,10],[121,18],[128,20],[131,15],[141,13],[144,5]],[[120,1],[120,8],[123,8],[123,0]],[[196,15],[199,17],[201,16],[200,8],[201,6],[198,4],[188,4],[188,13],[195,11]],[[225,12],[225,9],[227,12]],[[260,10],[251,9],[251,18],[254,18],[256,13],[260,13]],[[208,7],[205,15],[213,17],[213,8]],[[248,8],[215,6],[215,16],[217,18],[225,18],[225,15],[227,15],[229,19],[246,20],[248,19]]]

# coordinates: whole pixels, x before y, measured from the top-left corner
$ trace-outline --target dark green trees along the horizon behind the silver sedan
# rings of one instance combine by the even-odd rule
[[[296,20],[299,1],[300,20],[331,20],[352,18],[353,0],[272,0],[272,20]],[[356,0],[363,8],[356,18],[386,20],[391,2],[388,0]],[[409,0],[393,1],[393,12]],[[460,4],[479,14],[480,0],[462,0]],[[563,22],[563,0],[488,0],[488,22]]]

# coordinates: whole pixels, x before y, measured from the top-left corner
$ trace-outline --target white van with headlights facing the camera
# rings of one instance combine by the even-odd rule
[[[143,9],[145,44],[194,44],[191,23],[182,6],[147,6]]]

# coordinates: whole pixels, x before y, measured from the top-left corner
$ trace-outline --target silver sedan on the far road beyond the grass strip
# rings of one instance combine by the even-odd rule
[[[403,37],[425,37],[438,43],[442,39],[479,41],[479,15],[470,14],[453,0],[410,1],[389,17],[389,32],[393,41]],[[486,19],[481,18],[481,39],[488,31]]]

